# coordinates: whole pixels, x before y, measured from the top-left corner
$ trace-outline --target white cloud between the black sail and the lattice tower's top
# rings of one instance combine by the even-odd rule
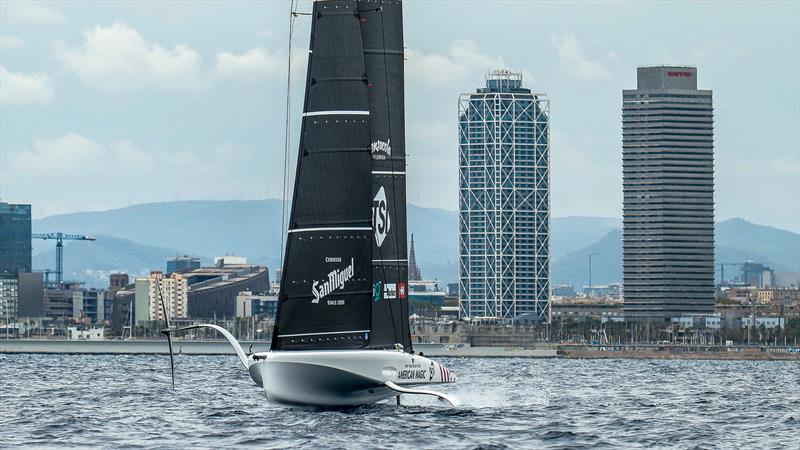
[[[445,53],[408,49],[406,59],[408,84],[418,88],[452,87],[467,80],[474,82],[478,74],[482,77],[490,70],[507,68],[501,56],[482,53],[469,40],[454,41]]]

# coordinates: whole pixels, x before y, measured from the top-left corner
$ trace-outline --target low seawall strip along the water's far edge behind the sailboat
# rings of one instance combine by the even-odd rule
[[[241,341],[245,352],[269,350],[269,341]],[[175,340],[176,355],[233,355],[233,347],[220,340]],[[787,347],[716,347],[710,349],[652,348],[639,349],[550,344],[539,348],[473,347],[469,344],[414,344],[414,350],[433,357],[452,358],[560,358],[560,359],[677,359],[677,360],[746,360],[800,361],[800,352]],[[74,355],[166,355],[165,340],[72,341],[56,339],[0,340],[0,354],[74,354]]]

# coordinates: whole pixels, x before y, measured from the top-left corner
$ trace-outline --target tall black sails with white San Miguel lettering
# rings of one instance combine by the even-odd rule
[[[273,350],[411,351],[403,16],[314,3]]]

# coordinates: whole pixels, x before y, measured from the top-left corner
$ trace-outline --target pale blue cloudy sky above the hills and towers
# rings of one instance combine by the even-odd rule
[[[310,11],[301,2],[300,11]],[[281,198],[307,16],[289,1],[0,1],[0,198],[34,217]],[[716,219],[800,232],[800,2],[406,1],[408,200],[457,209],[458,96],[523,73],[551,109],[554,217],[620,217],[622,90],[695,65],[715,113]]]

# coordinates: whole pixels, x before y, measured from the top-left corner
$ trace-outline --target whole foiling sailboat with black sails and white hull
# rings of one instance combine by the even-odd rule
[[[408,321],[402,3],[316,1],[278,310],[242,365],[269,400],[370,404],[452,383]],[[165,311],[165,317],[167,316]],[[171,340],[170,340],[171,347]],[[173,374],[174,380],[174,374]]]

